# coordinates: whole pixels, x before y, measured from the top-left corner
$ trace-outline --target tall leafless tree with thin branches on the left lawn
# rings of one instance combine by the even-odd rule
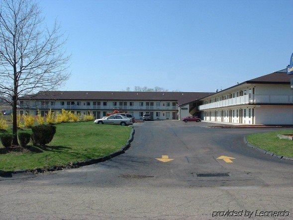
[[[0,96],[13,109],[15,145],[19,97],[56,89],[69,78],[63,34],[57,21],[49,30],[34,0],[0,0]]]

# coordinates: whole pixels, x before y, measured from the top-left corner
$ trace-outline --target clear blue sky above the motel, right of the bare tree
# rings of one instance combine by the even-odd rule
[[[68,35],[63,90],[214,92],[289,64],[293,0],[40,0]]]

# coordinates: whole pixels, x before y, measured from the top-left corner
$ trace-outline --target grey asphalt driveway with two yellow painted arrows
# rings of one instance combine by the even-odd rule
[[[271,129],[206,125],[136,123],[130,149],[111,160],[0,178],[0,218],[211,219],[216,211],[247,210],[254,217],[256,210],[293,210],[293,162],[243,143],[245,135]],[[155,159],[162,155],[173,160]],[[197,177],[204,173],[229,176]]]

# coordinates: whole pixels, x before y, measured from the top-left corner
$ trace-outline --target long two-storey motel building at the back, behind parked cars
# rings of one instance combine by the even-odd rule
[[[212,93],[201,92],[99,92],[99,91],[50,91],[22,97],[18,103],[19,114],[45,116],[48,110],[62,109],[73,113],[106,116],[113,110],[131,113],[143,119],[148,113],[153,120],[179,119],[179,105],[200,99]]]

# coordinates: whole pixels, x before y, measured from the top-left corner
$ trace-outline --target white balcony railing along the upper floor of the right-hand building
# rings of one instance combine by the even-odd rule
[[[293,96],[282,95],[245,95],[219,102],[198,106],[198,110],[216,109],[221,107],[244,104],[293,104]]]

